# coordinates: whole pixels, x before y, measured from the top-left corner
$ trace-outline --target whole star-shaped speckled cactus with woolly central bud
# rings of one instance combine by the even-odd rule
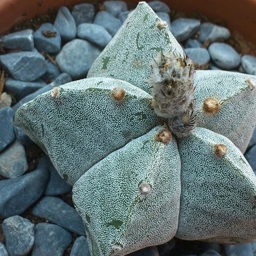
[[[255,81],[194,71],[140,2],[86,79],[39,95],[14,121],[74,185],[92,256],[173,236],[246,243],[256,238],[256,178],[243,156]]]

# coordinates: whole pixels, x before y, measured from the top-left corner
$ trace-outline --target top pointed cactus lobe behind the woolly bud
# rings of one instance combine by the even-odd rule
[[[166,22],[146,2],[140,2],[94,61],[87,77],[114,77],[150,92],[146,82],[151,73],[150,61],[160,51],[184,54]]]

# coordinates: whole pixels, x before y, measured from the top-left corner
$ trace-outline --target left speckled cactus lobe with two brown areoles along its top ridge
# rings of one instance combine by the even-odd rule
[[[51,158],[68,183],[154,126],[152,97],[128,82],[89,78],[53,88],[24,104],[20,126]]]

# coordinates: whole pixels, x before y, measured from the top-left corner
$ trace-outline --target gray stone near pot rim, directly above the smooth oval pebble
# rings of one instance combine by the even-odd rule
[[[230,36],[230,32],[225,27],[205,22],[200,26],[198,35],[198,40],[201,43],[204,43],[205,41],[216,42],[227,40]]]

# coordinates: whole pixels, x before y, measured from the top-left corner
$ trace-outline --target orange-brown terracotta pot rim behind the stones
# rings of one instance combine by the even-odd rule
[[[0,34],[10,29],[15,23],[30,19],[39,13],[46,13],[50,8],[70,6],[77,3],[98,3],[99,0],[1,0]],[[126,1],[135,7],[138,1]],[[191,13],[201,12],[205,16],[224,20],[228,28],[239,32],[244,39],[256,45],[256,0],[163,0],[173,10]]]

